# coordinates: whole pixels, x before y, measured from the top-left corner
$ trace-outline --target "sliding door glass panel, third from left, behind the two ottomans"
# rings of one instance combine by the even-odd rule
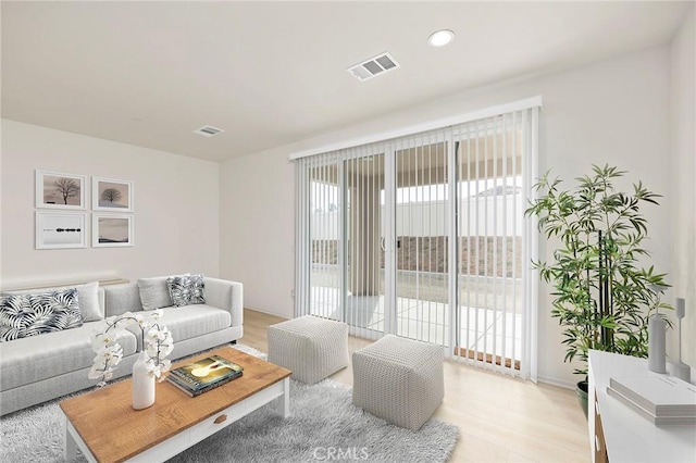
[[[448,346],[451,220],[445,138],[433,133],[395,146],[394,265],[396,333]]]

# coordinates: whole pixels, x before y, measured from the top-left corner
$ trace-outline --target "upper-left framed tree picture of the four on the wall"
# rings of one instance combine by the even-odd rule
[[[42,209],[86,209],[84,175],[36,171],[36,207]]]

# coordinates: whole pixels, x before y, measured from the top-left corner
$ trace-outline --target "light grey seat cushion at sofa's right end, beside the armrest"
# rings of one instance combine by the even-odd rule
[[[186,339],[229,328],[232,315],[226,310],[207,304],[196,304],[164,309],[160,322],[172,333],[174,346],[176,346],[177,342]],[[128,329],[137,334],[138,346],[140,346],[140,329],[136,327],[128,327]]]

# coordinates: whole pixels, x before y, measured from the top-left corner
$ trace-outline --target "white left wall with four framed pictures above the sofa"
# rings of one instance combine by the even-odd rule
[[[219,274],[217,163],[8,120],[2,120],[1,162],[3,287]],[[89,185],[91,176],[133,180],[135,246],[35,250],[35,170],[87,175]]]

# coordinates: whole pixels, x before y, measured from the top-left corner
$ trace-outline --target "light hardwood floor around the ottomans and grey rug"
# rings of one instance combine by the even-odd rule
[[[239,341],[268,352],[266,328],[284,318],[245,309]],[[349,337],[350,352],[371,341]],[[332,379],[352,385],[352,368]],[[461,434],[450,462],[587,462],[587,422],[569,389],[445,362],[445,400],[435,418]]]

